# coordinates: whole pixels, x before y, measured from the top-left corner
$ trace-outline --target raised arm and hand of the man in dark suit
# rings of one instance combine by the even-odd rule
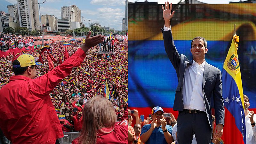
[[[179,65],[180,65],[180,55],[174,45],[172,30],[171,30],[171,23],[170,23],[170,19],[173,17],[175,11],[172,12],[172,3],[170,7],[169,2],[167,2],[167,4],[165,3],[165,9],[164,9],[164,6],[162,5],[162,9],[163,9],[163,17],[164,17],[164,26],[166,27],[166,28],[162,28],[162,33],[164,38],[164,48],[165,48],[165,52],[168,55],[169,60],[172,62],[173,67],[177,69],[179,68]]]

